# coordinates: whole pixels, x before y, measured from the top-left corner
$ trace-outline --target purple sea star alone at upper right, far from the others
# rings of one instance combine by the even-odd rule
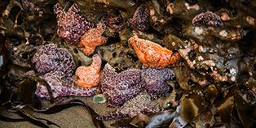
[[[211,11],[202,12],[192,19],[195,26],[222,27],[223,21],[220,16]]]

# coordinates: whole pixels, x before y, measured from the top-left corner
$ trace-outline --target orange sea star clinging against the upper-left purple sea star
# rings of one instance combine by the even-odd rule
[[[78,47],[82,48],[83,53],[90,55],[95,51],[95,48],[98,45],[104,45],[107,42],[107,38],[101,36],[104,29],[104,23],[99,22],[97,28],[91,28],[82,36],[81,41],[78,43]]]

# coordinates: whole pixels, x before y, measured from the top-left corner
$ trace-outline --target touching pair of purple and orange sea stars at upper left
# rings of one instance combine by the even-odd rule
[[[57,3],[54,10],[57,14],[58,35],[72,45],[77,45],[79,42],[78,46],[86,55],[93,53],[96,46],[104,45],[107,42],[107,38],[101,36],[105,29],[104,23],[99,22],[97,28],[93,28],[93,23],[77,14],[79,11],[77,4],[74,3],[66,12]]]

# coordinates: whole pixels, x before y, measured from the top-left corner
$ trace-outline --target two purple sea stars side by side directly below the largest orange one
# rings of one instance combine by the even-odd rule
[[[101,72],[100,84],[101,90],[108,100],[108,106],[118,107],[143,90],[146,90],[152,99],[166,96],[171,90],[165,81],[173,78],[174,72],[168,68],[163,70],[130,69],[118,74],[107,63]]]

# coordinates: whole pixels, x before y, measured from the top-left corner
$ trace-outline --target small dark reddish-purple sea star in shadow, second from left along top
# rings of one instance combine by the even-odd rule
[[[108,14],[106,24],[115,31],[121,31],[124,28],[123,19],[120,14]]]

